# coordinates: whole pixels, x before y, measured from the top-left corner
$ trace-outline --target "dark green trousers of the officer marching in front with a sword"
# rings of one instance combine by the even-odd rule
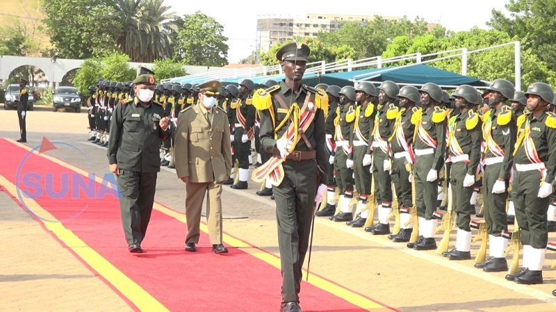
[[[299,302],[302,266],[309,248],[318,168],[313,160],[282,163],[284,179],[273,186],[282,275],[282,302]]]

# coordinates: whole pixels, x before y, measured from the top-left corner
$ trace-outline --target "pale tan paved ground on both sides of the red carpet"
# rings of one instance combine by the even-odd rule
[[[0,137],[19,138],[14,111],[4,111],[0,106],[0,120]],[[86,141],[86,126],[85,113],[30,112],[27,145],[39,145],[42,136],[70,142],[88,156],[89,165],[83,165],[77,155],[54,152],[51,156],[102,175],[108,172],[106,149]],[[247,217],[226,220],[224,231],[277,254],[273,202],[254,195],[258,189],[255,183],[250,183],[249,190],[224,188],[224,212],[229,216]],[[164,168],[159,174],[156,200],[183,211],[184,192],[183,183],[175,173]],[[6,200],[2,193],[0,196],[3,196],[0,198],[1,311],[130,309],[102,279],[95,277],[61,247],[17,204]],[[176,235],[184,236],[185,229]],[[453,240],[455,233],[452,236]],[[556,235],[551,233],[550,239],[556,240]],[[148,244],[148,239],[145,243]],[[475,254],[477,246],[473,248]],[[37,252],[37,249],[48,252]],[[554,260],[556,253],[548,252],[543,272],[545,284],[520,286],[506,281],[505,272],[486,274],[473,268],[473,261],[453,263],[432,251],[415,252],[385,237],[319,218],[315,226],[311,272],[400,311],[540,312],[556,311],[556,299],[550,295],[556,288],[556,271],[550,269]],[[47,265],[49,263],[51,266]],[[60,292],[62,287],[65,288]],[[82,299],[91,293],[103,299],[95,299],[94,303]],[[102,306],[95,306],[95,303]]]

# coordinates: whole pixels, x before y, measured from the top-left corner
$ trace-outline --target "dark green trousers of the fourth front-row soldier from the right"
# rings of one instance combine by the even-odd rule
[[[439,197],[439,179],[427,181],[433,160],[434,154],[415,156],[415,205],[417,216],[426,220],[432,219],[432,213],[436,211],[436,198]]]

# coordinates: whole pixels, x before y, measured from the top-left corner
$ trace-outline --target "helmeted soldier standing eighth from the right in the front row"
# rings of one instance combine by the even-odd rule
[[[340,113],[336,125],[336,150],[334,151],[334,172],[340,189],[340,211],[330,217],[335,222],[353,220],[353,156],[352,134],[356,118],[355,88],[346,85],[340,90]]]

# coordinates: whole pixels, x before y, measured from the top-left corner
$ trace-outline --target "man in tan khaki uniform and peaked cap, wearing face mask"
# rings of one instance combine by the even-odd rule
[[[222,245],[222,182],[231,173],[230,130],[226,111],[215,107],[218,81],[199,85],[199,104],[183,110],[176,129],[176,172],[186,183],[186,251],[195,252],[203,199],[208,193],[206,219],[213,252]]]

